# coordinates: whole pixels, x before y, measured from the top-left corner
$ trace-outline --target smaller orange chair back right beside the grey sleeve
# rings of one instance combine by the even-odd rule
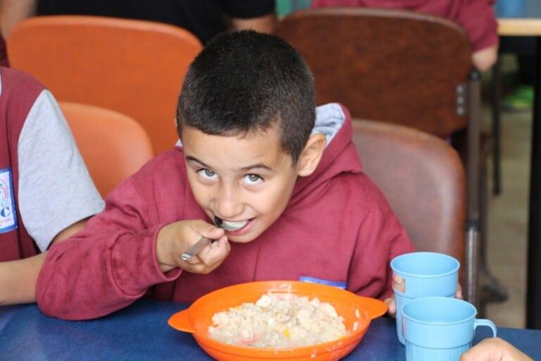
[[[154,156],[149,136],[129,116],[98,106],[59,104],[102,197]]]

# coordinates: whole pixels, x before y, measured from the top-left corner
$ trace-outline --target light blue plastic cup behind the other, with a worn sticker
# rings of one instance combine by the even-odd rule
[[[452,297],[459,283],[460,262],[434,252],[413,252],[391,261],[392,289],[397,302],[397,336],[404,345],[402,306],[421,297]]]

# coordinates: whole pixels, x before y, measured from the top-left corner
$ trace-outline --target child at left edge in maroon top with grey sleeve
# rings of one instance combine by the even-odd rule
[[[40,252],[103,208],[52,94],[0,68],[0,305],[35,302]]]

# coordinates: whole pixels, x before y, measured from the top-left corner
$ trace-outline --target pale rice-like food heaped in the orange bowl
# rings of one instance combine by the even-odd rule
[[[349,333],[344,319],[318,298],[269,291],[255,303],[216,312],[209,336],[254,348],[293,348],[335,341]]]

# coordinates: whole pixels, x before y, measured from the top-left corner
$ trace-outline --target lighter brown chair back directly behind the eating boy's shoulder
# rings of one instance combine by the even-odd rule
[[[459,155],[427,133],[354,121],[363,169],[387,197],[417,250],[442,252],[464,265],[466,183]]]

